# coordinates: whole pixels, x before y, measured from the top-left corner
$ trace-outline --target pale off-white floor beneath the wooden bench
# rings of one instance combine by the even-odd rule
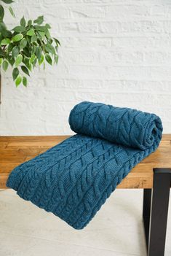
[[[116,190],[87,228],[73,230],[15,191],[0,190],[0,256],[145,256],[142,196],[142,190]],[[171,255],[170,213],[171,207],[165,256]]]

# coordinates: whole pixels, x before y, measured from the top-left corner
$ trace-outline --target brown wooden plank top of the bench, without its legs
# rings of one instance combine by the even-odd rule
[[[0,189],[7,188],[15,166],[45,152],[69,136],[0,136]],[[164,134],[156,152],[149,155],[123,179],[117,188],[153,187],[153,168],[171,168],[171,134]]]

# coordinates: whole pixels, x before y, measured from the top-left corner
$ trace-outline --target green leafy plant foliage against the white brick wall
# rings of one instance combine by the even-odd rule
[[[7,71],[11,65],[15,85],[23,82],[27,86],[25,74],[29,76],[35,66],[43,64],[45,68],[45,61],[50,65],[57,63],[57,47],[60,42],[51,36],[51,27],[44,24],[44,16],[28,21],[23,17],[19,26],[9,30],[4,23],[4,7],[7,8],[14,1],[1,1],[6,5],[0,4],[0,66]],[[15,17],[12,7],[8,9]]]

